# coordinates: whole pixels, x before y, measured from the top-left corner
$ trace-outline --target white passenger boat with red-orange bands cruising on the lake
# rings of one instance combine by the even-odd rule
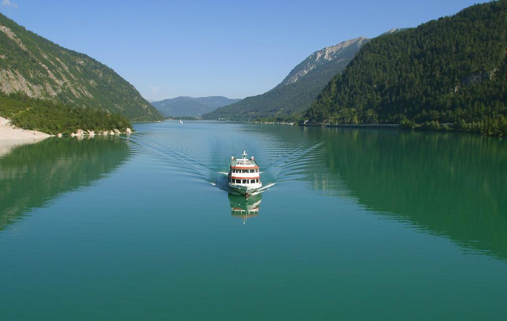
[[[231,168],[229,170],[229,187],[240,194],[248,197],[252,192],[262,187],[259,165],[255,158],[246,158],[246,151],[243,151],[242,158],[231,156]]]

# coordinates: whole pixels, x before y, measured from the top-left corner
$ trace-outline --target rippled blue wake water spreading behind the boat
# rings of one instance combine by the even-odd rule
[[[134,134],[129,139],[133,153],[149,154],[167,169],[224,190],[229,190],[229,159],[243,150],[261,165],[261,192],[279,182],[300,180],[325,155],[322,142],[291,140],[276,131],[259,131],[255,126],[166,122],[163,130]]]

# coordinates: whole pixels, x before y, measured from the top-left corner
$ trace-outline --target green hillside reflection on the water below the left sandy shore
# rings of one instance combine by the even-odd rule
[[[112,173],[129,155],[121,137],[49,138],[0,157],[0,231],[58,195]]]

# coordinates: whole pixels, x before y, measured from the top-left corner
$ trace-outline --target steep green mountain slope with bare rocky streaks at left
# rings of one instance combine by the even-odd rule
[[[73,107],[105,109],[131,121],[160,113],[113,69],[60,47],[0,14],[0,92]]]

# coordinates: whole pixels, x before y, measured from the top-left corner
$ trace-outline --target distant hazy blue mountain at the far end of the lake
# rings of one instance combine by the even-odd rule
[[[153,101],[151,104],[165,116],[194,116],[200,117],[203,114],[216,108],[230,105],[241,99],[230,99],[224,96],[209,97],[186,97],[180,96],[172,99]]]

